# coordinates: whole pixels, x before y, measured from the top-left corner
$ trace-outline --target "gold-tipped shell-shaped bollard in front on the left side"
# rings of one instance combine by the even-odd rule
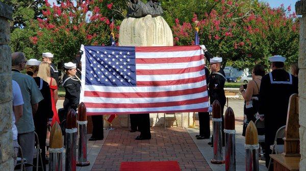
[[[49,171],[62,171],[64,148],[62,130],[58,122],[53,125],[49,140]]]

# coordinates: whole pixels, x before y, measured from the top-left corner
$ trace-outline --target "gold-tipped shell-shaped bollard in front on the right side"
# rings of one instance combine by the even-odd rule
[[[258,171],[258,132],[253,121],[250,121],[245,132],[245,170]]]

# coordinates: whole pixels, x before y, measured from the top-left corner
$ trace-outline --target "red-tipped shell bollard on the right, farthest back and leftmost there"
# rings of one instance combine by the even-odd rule
[[[213,164],[224,164],[222,156],[222,118],[221,106],[218,100],[213,102],[213,139],[214,139],[214,158]]]

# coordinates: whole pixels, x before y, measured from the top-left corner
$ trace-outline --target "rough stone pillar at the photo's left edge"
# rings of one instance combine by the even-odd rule
[[[12,8],[0,2],[0,170],[14,170],[10,22]]]

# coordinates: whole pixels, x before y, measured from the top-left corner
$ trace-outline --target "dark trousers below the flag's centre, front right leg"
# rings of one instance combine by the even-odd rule
[[[151,138],[150,132],[150,115],[149,114],[137,114],[138,116],[138,129],[140,131],[140,137]]]

